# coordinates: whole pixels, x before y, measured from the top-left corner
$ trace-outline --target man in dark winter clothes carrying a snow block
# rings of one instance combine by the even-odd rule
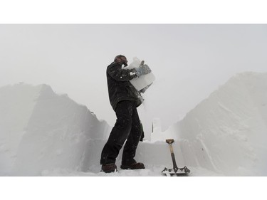
[[[122,65],[127,66],[127,58],[119,55],[107,68],[108,94],[117,120],[101,153],[100,164],[102,172],[106,173],[117,171],[115,161],[126,140],[120,168],[145,169],[144,164],[134,159],[141,137],[137,107],[143,99],[129,80],[148,74],[151,70],[144,65],[144,61],[139,68],[124,69]]]

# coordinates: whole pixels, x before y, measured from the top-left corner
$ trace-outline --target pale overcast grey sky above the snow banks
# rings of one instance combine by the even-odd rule
[[[156,76],[140,119],[166,129],[232,75],[266,72],[266,52],[261,24],[0,24],[0,86],[46,83],[113,125],[106,67],[137,56]]]

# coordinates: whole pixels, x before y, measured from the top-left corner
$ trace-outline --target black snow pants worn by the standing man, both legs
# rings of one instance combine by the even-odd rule
[[[118,102],[115,112],[117,121],[101,153],[100,164],[115,164],[117,155],[124,143],[122,164],[132,164],[135,162],[135,152],[141,137],[140,119],[135,101]]]

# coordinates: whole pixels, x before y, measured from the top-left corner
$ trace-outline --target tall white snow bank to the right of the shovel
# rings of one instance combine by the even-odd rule
[[[227,176],[267,175],[267,73],[241,73],[166,131],[187,165]]]

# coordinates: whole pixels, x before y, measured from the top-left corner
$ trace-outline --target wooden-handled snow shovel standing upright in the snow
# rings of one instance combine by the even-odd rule
[[[183,168],[178,168],[176,161],[175,161],[175,157],[174,157],[174,152],[172,149],[172,143],[174,142],[173,139],[167,139],[166,142],[169,144],[169,149],[171,151],[171,156],[172,156],[172,164],[173,164],[173,169],[167,169],[166,167],[162,170],[162,174],[164,174],[165,176],[187,176],[187,174],[190,173],[190,170],[187,167],[183,167]]]

